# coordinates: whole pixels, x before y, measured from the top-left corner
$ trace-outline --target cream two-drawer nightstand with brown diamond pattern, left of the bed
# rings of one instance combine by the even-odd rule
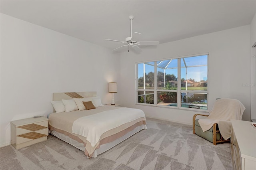
[[[48,119],[46,117],[11,121],[11,144],[16,149],[47,140]]]

